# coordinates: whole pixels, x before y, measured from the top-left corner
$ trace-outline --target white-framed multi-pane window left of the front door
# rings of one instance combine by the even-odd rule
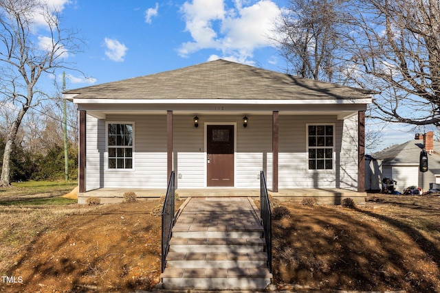
[[[109,169],[133,169],[133,124],[107,124]]]

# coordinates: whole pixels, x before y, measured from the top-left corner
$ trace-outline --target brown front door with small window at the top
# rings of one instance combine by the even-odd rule
[[[234,186],[234,126],[207,126],[207,186]]]

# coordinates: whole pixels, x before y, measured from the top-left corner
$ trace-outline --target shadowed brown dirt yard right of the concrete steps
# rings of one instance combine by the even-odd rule
[[[355,209],[288,204],[289,215],[272,222],[276,282],[285,289],[440,292],[440,198],[368,200]]]

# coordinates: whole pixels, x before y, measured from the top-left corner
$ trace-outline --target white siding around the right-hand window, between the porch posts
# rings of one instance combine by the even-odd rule
[[[358,188],[358,116],[280,116],[278,188]],[[309,169],[307,124],[333,124],[333,169]]]

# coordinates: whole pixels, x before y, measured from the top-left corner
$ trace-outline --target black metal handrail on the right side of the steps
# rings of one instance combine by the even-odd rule
[[[272,212],[264,172],[260,172],[260,218],[266,240],[267,268],[272,272]]]

